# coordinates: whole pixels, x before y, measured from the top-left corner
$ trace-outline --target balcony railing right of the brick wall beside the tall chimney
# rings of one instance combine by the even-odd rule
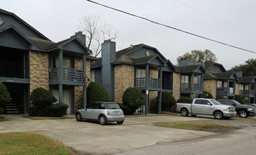
[[[147,84],[148,87],[160,88],[161,80],[150,77]],[[146,77],[135,78],[135,87],[146,87]]]

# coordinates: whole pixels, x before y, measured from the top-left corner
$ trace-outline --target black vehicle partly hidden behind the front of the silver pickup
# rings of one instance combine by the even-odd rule
[[[226,104],[229,106],[236,107],[236,113],[241,118],[247,118],[248,116],[254,116],[256,113],[256,108],[253,106],[248,106],[245,104],[240,104],[238,101],[233,99],[218,99],[221,104]]]

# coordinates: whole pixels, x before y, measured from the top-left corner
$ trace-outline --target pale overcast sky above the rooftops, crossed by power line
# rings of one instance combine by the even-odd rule
[[[256,52],[255,0],[95,1]],[[216,54],[217,62],[223,64],[226,70],[256,57],[256,54],[248,51],[155,25],[85,0],[1,0],[0,7],[15,13],[53,42],[60,42],[74,35],[83,16],[97,14],[102,22],[118,29],[116,51],[130,44],[147,44],[157,48],[175,65],[176,58],[187,51],[209,49]]]

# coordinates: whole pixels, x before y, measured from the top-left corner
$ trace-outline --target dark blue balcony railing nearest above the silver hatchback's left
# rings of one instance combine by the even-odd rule
[[[83,82],[83,70],[63,68],[63,80]],[[59,68],[51,68],[49,80],[59,80]]]

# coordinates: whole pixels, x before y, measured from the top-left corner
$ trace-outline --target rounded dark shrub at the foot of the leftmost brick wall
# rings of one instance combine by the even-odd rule
[[[39,87],[33,89],[30,95],[30,101],[33,106],[45,109],[47,106],[51,106],[54,102],[56,102],[57,99],[47,89]]]

